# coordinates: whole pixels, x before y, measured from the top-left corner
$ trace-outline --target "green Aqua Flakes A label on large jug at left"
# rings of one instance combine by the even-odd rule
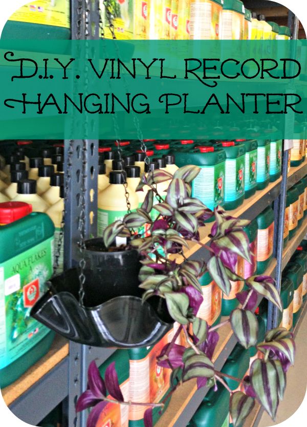
[[[53,237],[0,267],[0,369],[37,345],[49,332],[30,316],[52,275]]]

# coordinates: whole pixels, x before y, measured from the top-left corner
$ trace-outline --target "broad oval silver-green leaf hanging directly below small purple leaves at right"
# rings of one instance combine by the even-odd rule
[[[230,313],[230,323],[237,340],[244,348],[256,345],[258,321],[253,312],[236,308]]]

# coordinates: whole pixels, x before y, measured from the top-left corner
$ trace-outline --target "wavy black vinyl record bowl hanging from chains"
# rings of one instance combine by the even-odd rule
[[[76,343],[117,348],[152,346],[172,327],[166,306],[162,305],[158,315],[153,308],[155,300],[151,305],[126,295],[92,306],[94,295],[85,287],[81,306],[77,268],[53,277],[48,285],[50,290],[34,305],[31,316]]]

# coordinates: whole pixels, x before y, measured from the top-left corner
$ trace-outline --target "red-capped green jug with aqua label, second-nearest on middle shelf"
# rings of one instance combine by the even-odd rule
[[[225,162],[225,204],[226,210],[236,209],[244,201],[245,145],[224,141]]]

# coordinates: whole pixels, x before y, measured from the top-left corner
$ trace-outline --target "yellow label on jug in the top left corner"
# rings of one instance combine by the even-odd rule
[[[9,20],[70,28],[70,1],[35,0],[19,7]]]

